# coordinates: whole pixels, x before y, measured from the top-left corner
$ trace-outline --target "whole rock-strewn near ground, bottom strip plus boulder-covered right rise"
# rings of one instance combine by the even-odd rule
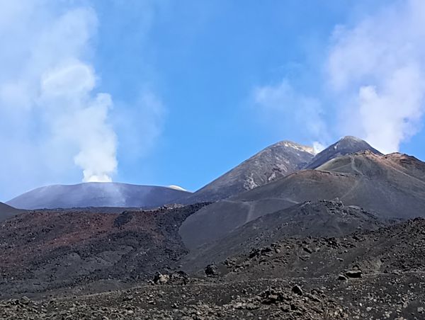
[[[0,302],[2,319],[424,319],[425,220],[284,237],[184,280]],[[177,280],[174,280],[177,279]]]

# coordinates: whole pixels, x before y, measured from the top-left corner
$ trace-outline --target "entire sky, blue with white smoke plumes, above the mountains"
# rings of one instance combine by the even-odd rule
[[[283,139],[425,159],[421,1],[0,8],[0,200],[83,178],[196,190]]]

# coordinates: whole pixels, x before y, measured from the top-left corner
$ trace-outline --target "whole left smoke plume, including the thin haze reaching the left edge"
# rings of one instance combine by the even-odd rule
[[[108,93],[96,93],[89,6],[0,0],[1,185],[111,181],[117,137]],[[78,174],[78,173],[77,173]]]

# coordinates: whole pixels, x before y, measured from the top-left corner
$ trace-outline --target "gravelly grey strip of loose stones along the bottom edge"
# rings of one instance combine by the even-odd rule
[[[1,319],[424,319],[423,273],[151,284],[0,303]]]

